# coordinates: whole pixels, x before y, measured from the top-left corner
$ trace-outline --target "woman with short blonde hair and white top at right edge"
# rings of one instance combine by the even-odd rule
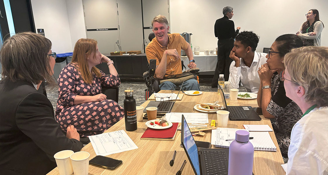
[[[286,96],[303,116],[294,125],[286,174],[328,174],[328,47],[301,47],[285,55],[280,73]],[[297,65],[297,66],[295,66]]]

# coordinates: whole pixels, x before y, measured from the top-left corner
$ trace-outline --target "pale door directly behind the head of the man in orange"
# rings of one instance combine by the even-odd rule
[[[164,15],[170,25],[169,0],[141,0],[143,14],[144,44],[145,47],[150,42],[148,36],[153,32],[153,18],[159,14]]]

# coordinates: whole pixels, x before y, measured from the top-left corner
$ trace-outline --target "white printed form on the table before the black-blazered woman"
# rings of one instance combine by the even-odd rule
[[[89,136],[89,139],[96,155],[101,156],[138,148],[124,130]]]

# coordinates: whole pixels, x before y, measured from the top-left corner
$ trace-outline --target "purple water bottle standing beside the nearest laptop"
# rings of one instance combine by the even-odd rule
[[[236,140],[229,146],[228,175],[253,174],[254,146],[248,141],[248,131],[236,131]]]

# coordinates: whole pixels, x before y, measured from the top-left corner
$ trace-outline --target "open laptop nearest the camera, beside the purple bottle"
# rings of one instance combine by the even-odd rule
[[[182,115],[181,144],[193,167],[195,175],[228,174],[229,149],[198,148]]]

